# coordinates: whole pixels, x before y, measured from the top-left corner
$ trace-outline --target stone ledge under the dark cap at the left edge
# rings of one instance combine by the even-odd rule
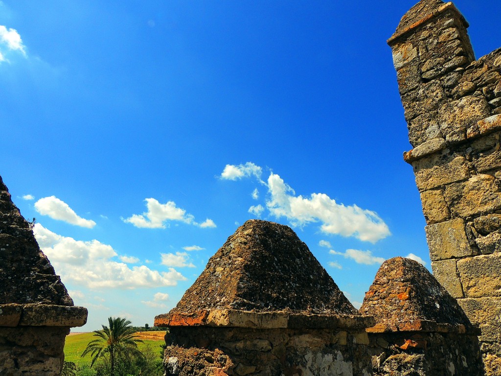
[[[87,308],[48,304],[0,304],[0,327],[83,326]]]

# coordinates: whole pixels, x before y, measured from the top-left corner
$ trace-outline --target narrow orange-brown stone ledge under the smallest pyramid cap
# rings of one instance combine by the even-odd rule
[[[397,322],[395,325],[376,324],[366,329],[368,333],[390,333],[421,331],[434,333],[455,333],[479,335],[480,329],[475,327],[466,328],[464,325],[441,324],[429,320],[412,320]]]

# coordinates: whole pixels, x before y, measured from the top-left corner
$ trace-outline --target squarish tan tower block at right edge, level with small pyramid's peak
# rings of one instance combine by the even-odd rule
[[[458,260],[457,270],[466,297],[501,296],[501,254]]]

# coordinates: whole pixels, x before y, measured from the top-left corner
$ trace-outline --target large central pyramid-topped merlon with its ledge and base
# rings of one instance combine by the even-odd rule
[[[363,316],[289,227],[251,220],[168,314],[167,376],[372,375]]]

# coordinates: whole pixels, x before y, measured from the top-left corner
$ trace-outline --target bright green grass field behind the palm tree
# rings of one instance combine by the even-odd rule
[[[149,333],[153,334],[148,335]],[[158,352],[158,356],[160,356],[161,347],[165,344],[163,339],[164,334],[165,333],[158,332],[141,332],[139,337],[144,342],[139,343],[139,349],[142,350],[149,345],[155,352]],[[87,347],[87,343],[95,339],[93,335],[94,333],[90,332],[67,336],[64,345],[65,361],[72,361],[80,367],[84,365],[88,366],[91,362],[90,355],[85,357],[81,357],[80,355],[84,352],[85,347]]]

